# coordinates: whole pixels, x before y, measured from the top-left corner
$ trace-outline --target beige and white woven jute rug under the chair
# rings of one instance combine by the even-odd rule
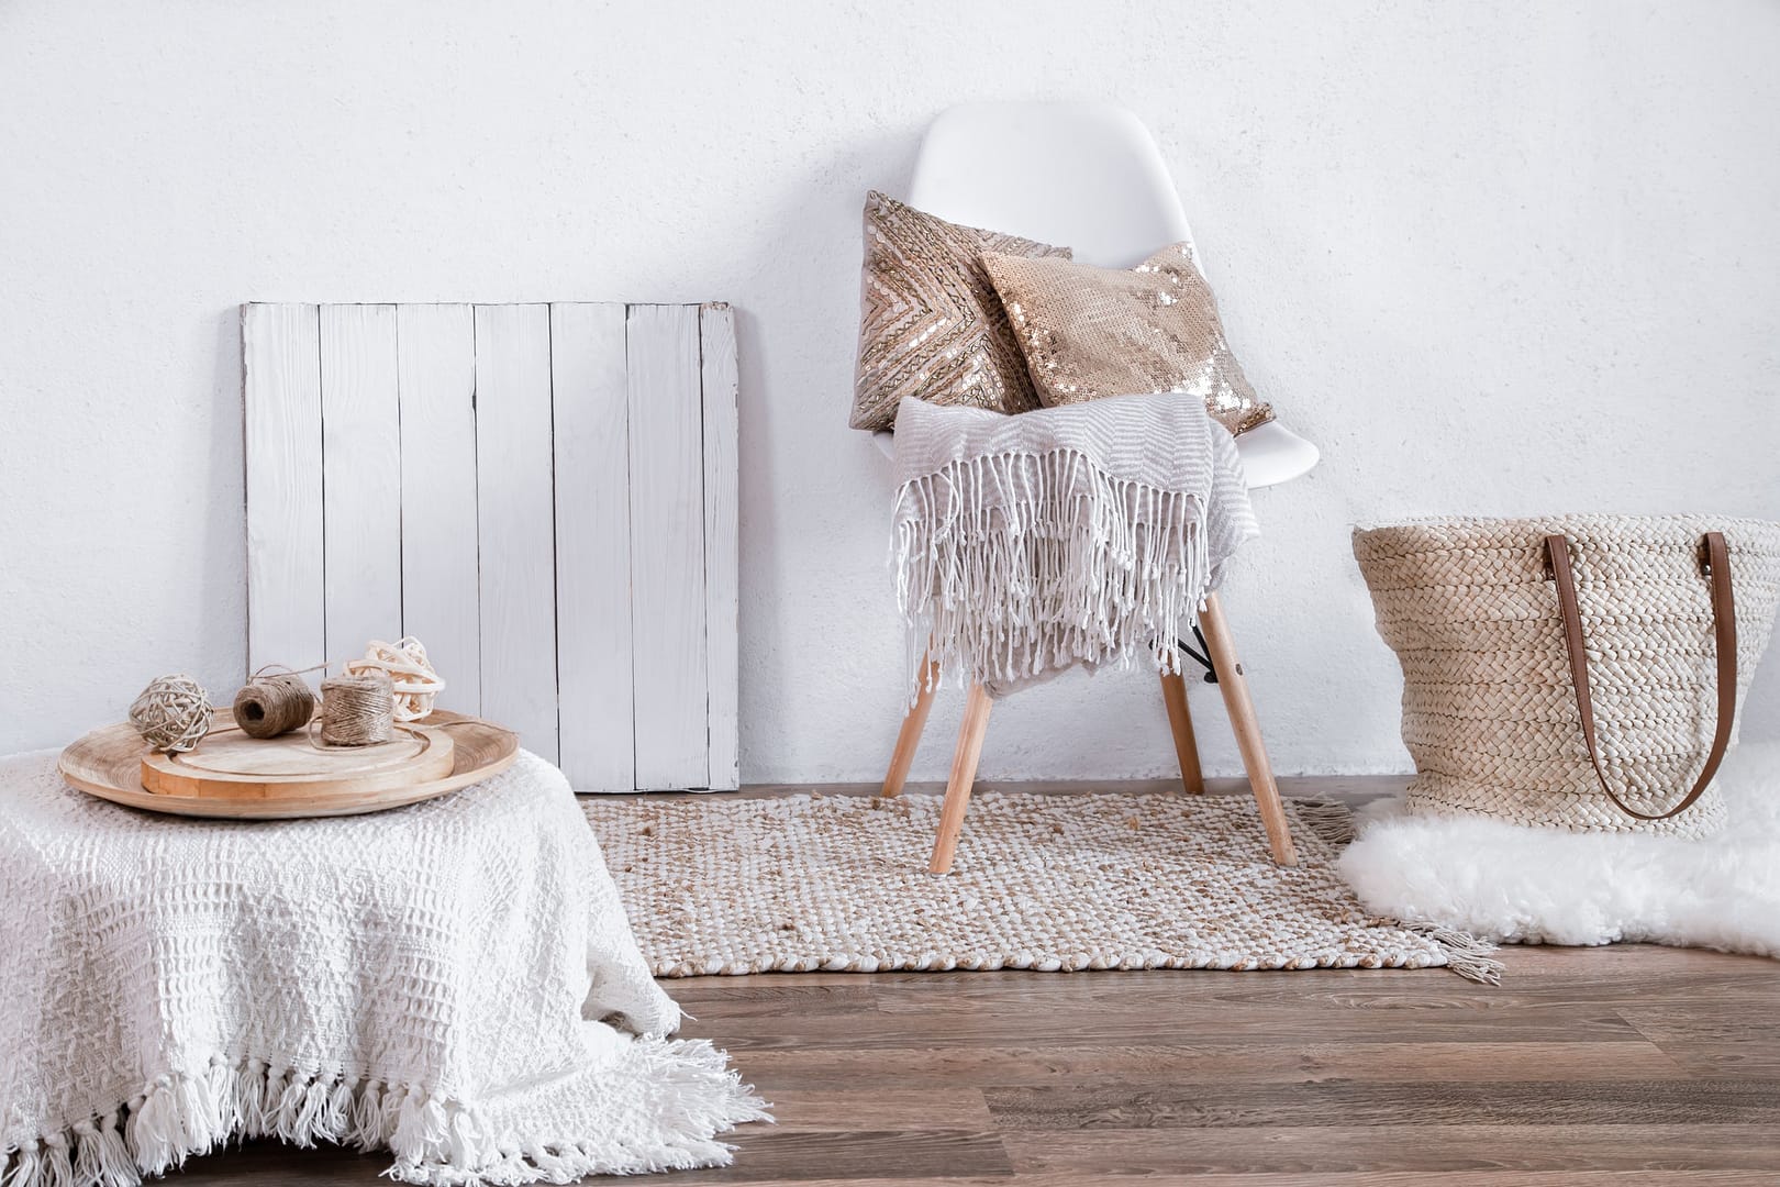
[[[984,792],[952,874],[938,795],[621,799],[582,810],[659,977],[951,968],[1431,968],[1490,947],[1369,916],[1333,870],[1351,826],[1287,801],[1301,865],[1237,795]]]

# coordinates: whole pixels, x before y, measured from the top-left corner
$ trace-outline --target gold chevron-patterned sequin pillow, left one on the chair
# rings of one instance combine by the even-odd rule
[[[1038,408],[984,251],[1070,258],[1068,247],[947,222],[878,192],[865,199],[854,429],[888,429],[904,395],[1000,413]]]

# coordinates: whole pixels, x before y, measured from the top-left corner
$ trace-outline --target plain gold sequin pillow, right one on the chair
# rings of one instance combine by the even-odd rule
[[[1185,244],[1130,271],[986,251],[1047,408],[1102,395],[1185,392],[1230,432],[1273,420],[1230,354],[1210,285]]]

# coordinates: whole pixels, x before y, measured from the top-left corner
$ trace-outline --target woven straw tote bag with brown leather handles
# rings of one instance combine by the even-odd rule
[[[1358,530],[1403,666],[1412,812],[1707,836],[1780,605],[1780,525],[1429,520]]]

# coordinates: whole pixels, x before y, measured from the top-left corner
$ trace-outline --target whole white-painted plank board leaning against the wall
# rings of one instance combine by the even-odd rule
[[[726,306],[253,304],[242,361],[253,667],[406,632],[584,790],[737,785]]]

